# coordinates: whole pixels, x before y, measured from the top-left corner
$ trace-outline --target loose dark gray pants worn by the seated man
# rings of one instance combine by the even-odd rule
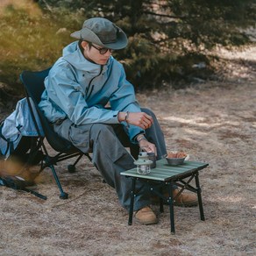
[[[156,117],[151,110],[142,111],[153,117],[153,125],[146,130],[146,139],[157,147],[158,159],[167,153],[165,139]],[[119,203],[126,209],[130,207],[132,179],[121,175],[121,172],[134,166],[132,155],[125,149],[131,147],[131,153],[137,158],[139,146],[132,144],[122,124],[83,124],[75,125],[69,119],[62,124],[54,124],[54,131],[61,137],[70,140],[82,152],[93,152],[92,160],[112,188],[116,189]],[[150,196],[145,183],[137,181],[137,196],[134,210],[149,205]]]

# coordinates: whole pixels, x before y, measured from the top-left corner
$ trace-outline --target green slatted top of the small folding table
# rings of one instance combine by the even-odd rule
[[[208,163],[196,161],[184,161],[182,165],[169,166],[166,159],[157,160],[156,167],[151,169],[150,174],[138,174],[137,168],[122,172],[122,175],[137,177],[153,181],[172,181],[179,177],[186,177],[198,170],[208,167]]]

